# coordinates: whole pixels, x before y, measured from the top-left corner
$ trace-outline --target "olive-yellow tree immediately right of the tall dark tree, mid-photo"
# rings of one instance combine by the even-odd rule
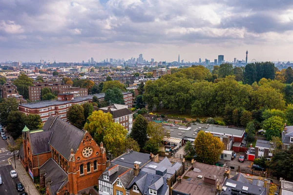
[[[132,129],[133,130],[133,129]],[[161,124],[150,122],[146,128],[146,134],[148,140],[146,141],[146,150],[149,152],[158,152],[160,142],[163,140],[166,135],[166,130],[162,127]]]

